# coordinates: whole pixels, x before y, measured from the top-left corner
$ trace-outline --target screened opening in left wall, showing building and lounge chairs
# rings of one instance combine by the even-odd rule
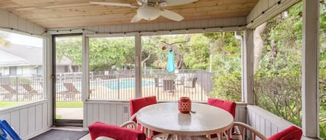
[[[44,39],[7,31],[0,38],[0,109],[42,100]]]

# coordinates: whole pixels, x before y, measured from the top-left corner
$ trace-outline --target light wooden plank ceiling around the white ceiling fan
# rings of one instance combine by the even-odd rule
[[[137,8],[99,6],[89,0],[0,0],[0,8],[45,28],[130,24]],[[101,1],[101,0],[91,0]],[[102,0],[103,1],[103,0]],[[134,3],[136,0],[106,0]],[[177,1],[177,0],[176,0]],[[184,20],[241,17],[250,13],[258,0],[199,0],[181,6],[163,7],[184,16]],[[171,22],[164,17],[138,23]]]

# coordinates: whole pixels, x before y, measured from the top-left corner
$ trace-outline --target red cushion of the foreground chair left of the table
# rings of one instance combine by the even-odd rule
[[[97,137],[101,136],[110,137],[117,140],[146,139],[144,132],[99,122],[95,122],[92,125],[88,126],[88,130],[90,131],[90,138],[92,140],[95,140]]]

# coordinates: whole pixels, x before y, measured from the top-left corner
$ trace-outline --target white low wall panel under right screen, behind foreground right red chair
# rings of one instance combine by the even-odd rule
[[[279,116],[253,105],[247,105],[247,114],[247,124],[259,130],[266,137],[293,125]]]

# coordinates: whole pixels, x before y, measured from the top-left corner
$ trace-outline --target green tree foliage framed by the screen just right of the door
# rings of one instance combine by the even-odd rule
[[[91,38],[90,71],[115,70],[123,66],[133,67],[134,46],[133,38]]]

